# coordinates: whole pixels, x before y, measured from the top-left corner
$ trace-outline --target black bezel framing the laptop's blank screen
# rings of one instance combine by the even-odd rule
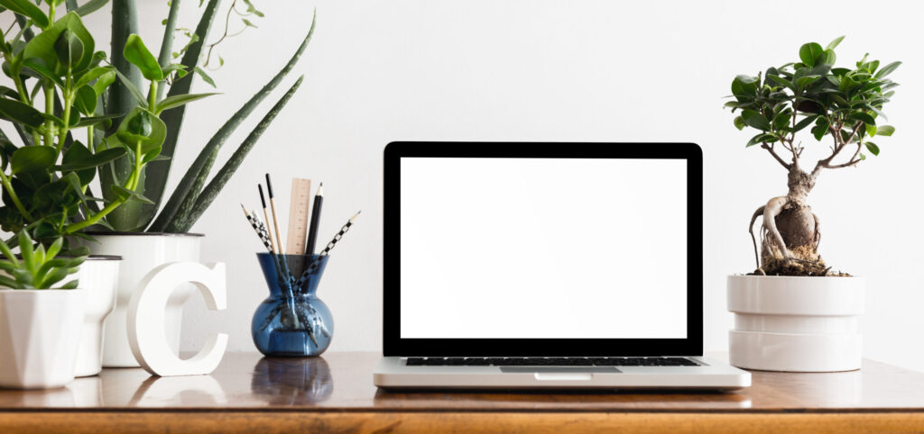
[[[400,158],[669,158],[687,160],[687,338],[432,339],[401,337]],[[679,224],[680,222],[678,222]],[[384,149],[384,356],[702,355],[702,151],[693,143],[393,142]]]

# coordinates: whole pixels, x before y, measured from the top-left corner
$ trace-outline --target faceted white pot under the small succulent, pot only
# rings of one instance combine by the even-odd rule
[[[0,289],[0,387],[74,380],[85,289]]]

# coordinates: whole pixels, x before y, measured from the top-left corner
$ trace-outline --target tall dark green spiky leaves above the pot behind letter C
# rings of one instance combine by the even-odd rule
[[[162,66],[164,63],[169,62],[169,59],[171,59],[173,55],[179,54],[172,51],[173,36],[175,34],[172,23],[176,22],[179,3],[179,0],[172,0],[170,2],[170,12],[167,19],[164,21],[166,23],[166,28],[164,29],[164,42],[161,45],[158,56],[159,63]],[[243,13],[238,12],[238,15],[262,15],[249,1],[245,1],[244,3],[248,6],[248,10]],[[225,17],[230,17],[232,11],[236,10],[236,5],[237,1],[232,2]],[[189,32],[189,43],[180,51],[180,53],[182,53],[182,59],[178,65],[181,65],[183,70],[194,71],[196,74],[188,74],[185,77],[178,77],[176,80],[172,80],[169,83],[169,90],[166,92],[164,100],[176,99],[177,96],[188,94],[194,76],[200,76],[210,82],[210,84],[213,84],[212,79],[202,71],[200,63],[203,57],[203,49],[211,55],[214,46],[214,43],[206,45],[205,41],[208,37],[209,29],[211,29],[213,25],[213,21],[219,15],[217,14],[218,6],[219,0],[209,0],[205,4],[199,24],[194,31]],[[225,22],[227,18],[225,18]],[[120,49],[120,45],[116,43],[116,41],[124,41],[128,34],[135,32],[137,22],[137,11],[135,10],[133,1],[113,0],[112,41],[114,41],[114,52]],[[311,35],[314,33],[314,26],[315,18],[312,18],[308,35],[301,41],[298,50],[296,50],[286,65],[283,66],[283,68],[237,112],[235,112],[227,122],[215,132],[205,146],[202,147],[198,157],[189,166],[188,170],[186,170],[176,190],[169,195],[163,207],[161,207],[161,204],[164,201],[164,190],[171,170],[171,158],[176,152],[186,108],[180,106],[161,112],[160,118],[163,120],[167,132],[164,137],[164,145],[161,149],[161,155],[164,158],[152,161],[146,168],[142,169],[141,179],[143,179],[144,182],[142,182],[138,191],[139,194],[143,194],[150,199],[151,202],[130,203],[120,207],[115,213],[112,213],[106,218],[109,227],[122,231],[188,231],[201,216],[202,212],[212,204],[214,198],[224,188],[225,182],[234,174],[237,167],[240,166],[243,159],[247,156],[249,150],[259,140],[262,132],[273,122],[274,117],[279,111],[282,111],[292,94],[298,89],[301,78],[288,89],[286,94],[276,103],[274,108],[263,117],[261,122],[257,124],[254,130],[237,147],[237,150],[233,153],[232,157],[225,162],[221,170],[218,171],[218,174],[214,176],[210,182],[206,183],[212,171],[218,151],[225,144],[228,137],[237,130],[237,127],[256,110],[261,101],[269,96],[286,75],[295,67],[301,54],[308,46]],[[225,29],[225,36],[226,35],[227,29]],[[223,36],[222,39],[224,39],[225,36]],[[206,58],[207,57],[208,56],[206,56]],[[135,83],[140,76],[137,68],[133,67],[133,65],[127,63],[115,63],[114,65],[127,80],[122,80],[113,85],[113,91],[110,93],[110,103],[106,107],[106,111],[126,111],[130,107],[138,104],[138,101],[130,98],[128,95],[130,92],[127,92],[126,89],[130,89],[132,86],[137,87],[137,85],[133,85],[133,83]],[[163,92],[163,88],[159,88],[159,90]],[[149,93],[149,98],[154,98],[155,103],[160,103],[162,101],[157,94]],[[104,184],[118,183],[121,179],[119,174],[128,173],[129,171],[130,161],[128,161],[127,158],[117,158],[107,164],[106,167],[99,168],[100,179]],[[105,192],[103,193],[105,194]],[[161,208],[160,213],[157,214],[159,208]]]

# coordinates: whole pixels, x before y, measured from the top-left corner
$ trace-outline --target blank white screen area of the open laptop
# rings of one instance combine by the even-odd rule
[[[402,338],[686,338],[687,161],[401,158]]]

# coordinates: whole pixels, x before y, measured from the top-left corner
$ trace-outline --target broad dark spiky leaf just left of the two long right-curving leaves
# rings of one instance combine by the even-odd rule
[[[180,60],[180,64],[186,66],[187,70],[194,70],[197,65],[199,65],[202,48],[205,46],[205,40],[208,36],[209,30],[212,28],[212,23],[218,10],[219,3],[219,0],[209,0],[209,3],[205,6],[204,11],[202,12],[202,17],[199,20],[199,24],[196,26],[196,31],[193,33],[193,39],[195,41],[189,44],[186,53],[183,54],[183,58]],[[171,9],[173,9],[173,6],[174,5],[171,5]],[[171,32],[170,37],[173,37],[173,30],[168,28],[164,31]],[[163,56],[167,56],[167,54],[162,53],[162,57]],[[190,74],[180,80],[177,80],[170,87],[170,91],[167,92],[167,97],[188,94],[192,88],[192,77],[193,75]],[[161,88],[164,87],[162,86]],[[164,140],[164,147],[161,149],[161,155],[171,159],[166,159],[163,161],[152,161],[149,163],[145,168],[146,177],[144,183],[145,194],[147,194],[148,197],[150,197],[152,201],[158,205],[161,203],[161,200],[164,197],[164,188],[166,187],[167,178],[170,176],[170,168],[173,163],[172,157],[176,151],[176,143],[179,139],[179,134],[183,126],[183,117],[185,114],[186,107],[179,107],[176,110],[164,111],[161,114],[161,119],[163,119],[164,123],[167,125],[167,137]],[[145,206],[143,211],[143,218],[145,220],[143,221],[143,226],[148,226],[148,224],[151,223],[151,220],[154,218],[154,214],[157,212],[157,205]]]

